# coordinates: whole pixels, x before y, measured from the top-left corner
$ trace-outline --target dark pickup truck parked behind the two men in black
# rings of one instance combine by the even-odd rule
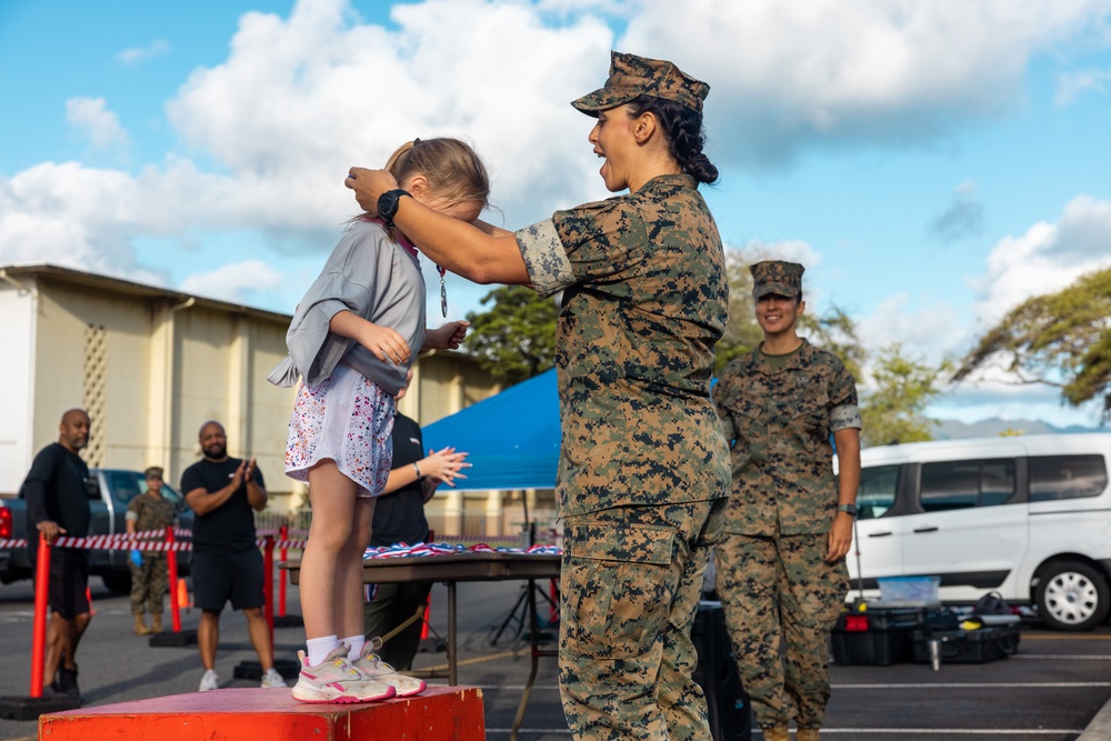
[[[126,533],[124,513],[128,502],[146,491],[142,471],[123,469],[89,470],[89,505],[92,509],[90,535],[114,535]],[[193,511],[184,498],[168,484],[162,484],[161,494],[171,500],[178,509],[178,524],[192,530]],[[22,497],[0,499],[0,541],[27,537],[27,501]],[[99,575],[109,591],[126,594],[131,590],[129,553],[126,550],[93,550],[92,573]],[[178,551],[178,570],[189,573],[191,551]],[[27,550],[0,547],[0,582],[8,584],[19,579],[31,578],[31,564]]]

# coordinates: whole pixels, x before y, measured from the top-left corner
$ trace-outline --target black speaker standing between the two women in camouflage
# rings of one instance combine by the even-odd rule
[[[752,709],[737,673],[721,602],[699,602],[691,641],[698,650],[694,681],[705,694],[714,741],[751,741]]]

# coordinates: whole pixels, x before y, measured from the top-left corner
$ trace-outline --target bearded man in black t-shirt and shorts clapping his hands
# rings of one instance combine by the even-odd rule
[[[264,570],[254,542],[254,513],[267,505],[266,483],[254,459],[228,457],[228,437],[219,422],[201,425],[203,458],[181,474],[181,491],[193,509],[192,578],[194,601],[201,609],[197,627],[204,675],[199,690],[220,685],[216,647],[220,640],[220,612],[228,600],[242,610],[248,634],[262,668],[262,687],[286,687],[274,670],[270,628],[262,615]]]

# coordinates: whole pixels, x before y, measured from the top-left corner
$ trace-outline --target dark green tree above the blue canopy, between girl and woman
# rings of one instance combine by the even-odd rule
[[[513,385],[556,363],[556,302],[523,286],[496,288],[482,298],[489,311],[470,312],[463,347],[496,381]]]

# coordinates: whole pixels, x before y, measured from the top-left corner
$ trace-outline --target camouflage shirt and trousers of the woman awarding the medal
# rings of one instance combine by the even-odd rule
[[[560,693],[575,739],[709,741],[690,627],[729,489],[709,398],[729,288],[693,178],[517,233],[557,338]]]

